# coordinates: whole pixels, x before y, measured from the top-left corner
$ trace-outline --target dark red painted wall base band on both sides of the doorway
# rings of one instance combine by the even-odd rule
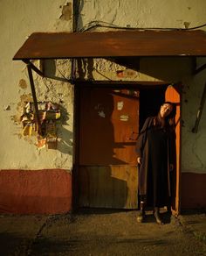
[[[182,173],[181,209],[206,208],[206,174]],[[72,175],[61,169],[1,170],[0,213],[58,214],[72,210]]]

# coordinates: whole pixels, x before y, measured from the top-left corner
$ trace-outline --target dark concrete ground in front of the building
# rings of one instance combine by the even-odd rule
[[[0,255],[206,255],[206,214],[185,212],[164,225],[147,212],[81,210],[57,216],[0,216]]]

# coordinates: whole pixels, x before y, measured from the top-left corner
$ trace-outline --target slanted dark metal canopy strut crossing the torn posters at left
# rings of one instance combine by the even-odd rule
[[[41,122],[40,122],[40,117],[38,115],[38,100],[37,100],[36,90],[35,90],[35,86],[34,86],[34,80],[33,80],[33,75],[32,75],[32,70],[31,70],[31,63],[27,64],[27,70],[28,70],[29,79],[30,79],[31,93],[32,93],[33,101],[34,101],[35,116],[38,121],[38,134],[42,135]]]

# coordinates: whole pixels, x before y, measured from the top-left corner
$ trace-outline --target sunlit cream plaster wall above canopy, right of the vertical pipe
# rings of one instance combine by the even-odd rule
[[[131,27],[184,28],[205,23],[204,0],[79,0],[79,28],[92,20]]]

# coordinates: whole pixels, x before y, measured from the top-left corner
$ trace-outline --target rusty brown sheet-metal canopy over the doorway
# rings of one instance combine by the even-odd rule
[[[13,60],[126,56],[206,56],[206,32],[35,32]]]

